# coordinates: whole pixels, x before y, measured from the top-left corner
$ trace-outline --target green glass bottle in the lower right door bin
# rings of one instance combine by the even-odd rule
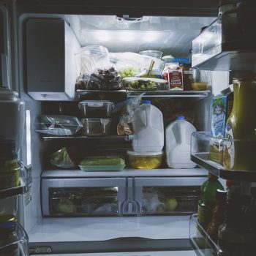
[[[223,190],[224,188],[217,176],[208,173],[208,180],[202,184],[200,189],[200,200],[197,208],[197,220],[205,229],[211,222],[217,189]]]

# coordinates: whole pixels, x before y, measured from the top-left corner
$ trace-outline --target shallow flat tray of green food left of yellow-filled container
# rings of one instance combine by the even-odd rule
[[[84,171],[118,171],[124,169],[125,162],[121,157],[86,157],[79,167]]]

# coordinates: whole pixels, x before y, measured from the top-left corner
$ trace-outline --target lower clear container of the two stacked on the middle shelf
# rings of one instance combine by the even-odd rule
[[[82,118],[84,135],[109,135],[110,134],[110,118]]]

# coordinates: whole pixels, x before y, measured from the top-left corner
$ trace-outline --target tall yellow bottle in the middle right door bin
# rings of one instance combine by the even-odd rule
[[[230,170],[255,170],[256,75],[233,79],[233,110],[227,118],[223,165]]]

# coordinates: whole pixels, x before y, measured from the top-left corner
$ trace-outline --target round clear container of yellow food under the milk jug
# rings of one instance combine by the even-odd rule
[[[127,151],[129,165],[136,169],[154,169],[162,165],[162,151],[135,152]]]

